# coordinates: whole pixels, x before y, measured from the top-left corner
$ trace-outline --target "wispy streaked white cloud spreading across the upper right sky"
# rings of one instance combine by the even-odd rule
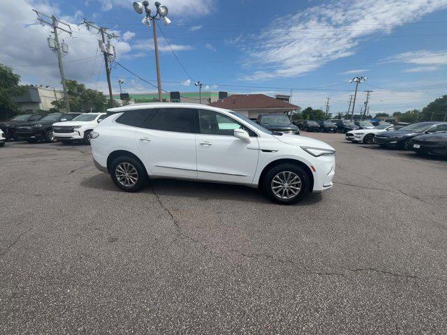
[[[251,68],[242,79],[302,75],[354,54],[362,37],[389,34],[404,22],[443,8],[447,0],[340,0],[281,17],[259,34],[241,38],[238,44],[247,53]],[[247,47],[250,39],[258,42]]]

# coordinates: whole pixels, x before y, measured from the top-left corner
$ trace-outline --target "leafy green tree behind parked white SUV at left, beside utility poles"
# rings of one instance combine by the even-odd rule
[[[104,112],[107,109],[107,98],[103,92],[87,89],[85,84],[76,80],[66,80],[66,87],[71,112]],[[65,98],[51,104],[57,110],[64,110]]]

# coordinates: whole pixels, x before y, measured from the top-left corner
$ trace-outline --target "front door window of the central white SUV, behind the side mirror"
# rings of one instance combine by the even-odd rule
[[[244,129],[251,137],[256,137],[256,133],[240,124],[235,119],[212,110],[199,110],[198,121],[200,133],[208,135],[233,136],[235,129]]]

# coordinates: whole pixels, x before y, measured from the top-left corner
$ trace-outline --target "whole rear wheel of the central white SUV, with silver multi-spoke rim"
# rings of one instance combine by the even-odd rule
[[[140,191],[146,184],[146,172],[135,158],[122,156],[110,165],[110,176],[116,186],[126,192]]]

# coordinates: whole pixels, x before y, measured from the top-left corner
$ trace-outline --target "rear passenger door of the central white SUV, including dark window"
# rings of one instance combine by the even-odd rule
[[[135,142],[154,176],[196,179],[196,109],[158,108]]]

